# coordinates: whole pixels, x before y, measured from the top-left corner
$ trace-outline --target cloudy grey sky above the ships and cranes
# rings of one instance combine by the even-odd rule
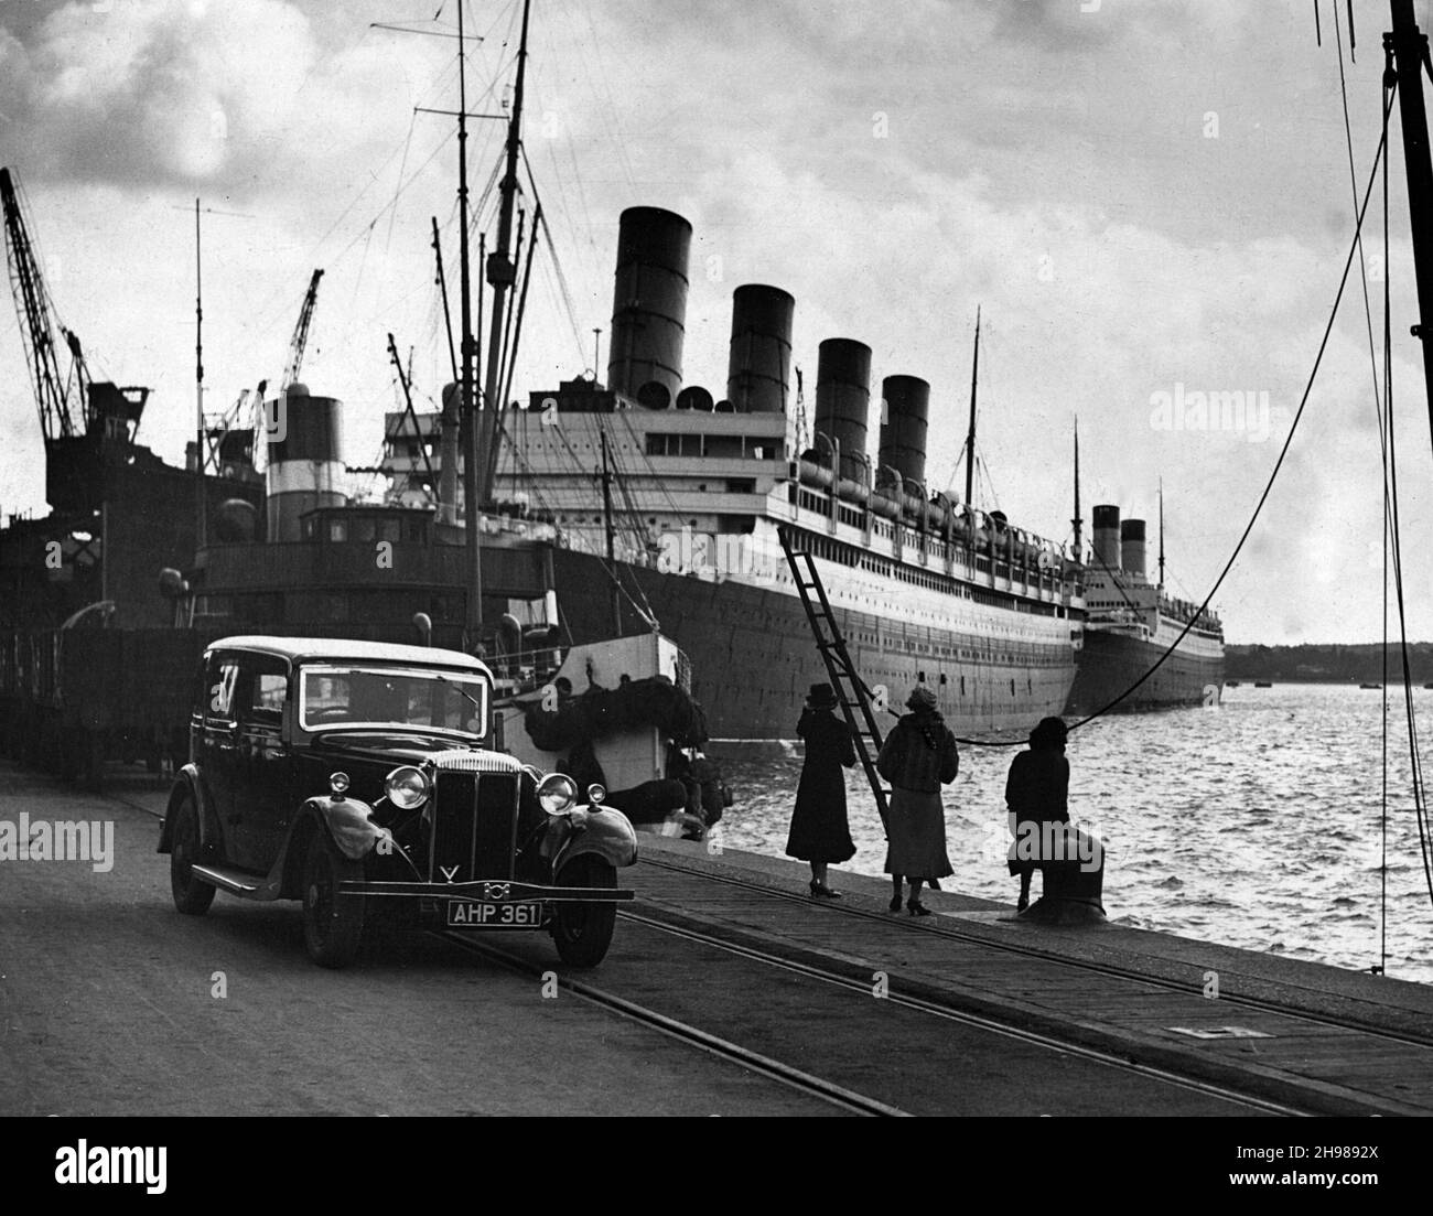
[[[721,396],[732,288],[784,287],[808,386],[825,337],[868,343],[877,380],[930,380],[944,486],[979,304],[982,505],[1066,536],[1078,414],[1086,519],[1115,502],[1152,521],[1162,478],[1171,582],[1199,599],[1288,433],[1353,232],[1334,6],[1320,7],[1321,47],[1310,0],[535,0],[526,143],[559,262],[539,260],[517,389],[592,364],[618,214],[671,208],[695,229],[689,383]],[[1361,191],[1389,17],[1383,0],[1354,7],[1356,65],[1341,34]],[[348,404],[350,463],[377,457],[394,407],[388,331],[414,350],[420,400],[437,396],[430,217],[451,265],[457,153],[451,120],[414,108],[456,108],[456,43],[371,23],[437,32],[456,16],[440,0],[0,3],[0,163],[64,324],[109,379],[153,386],[143,442],[179,459],[193,427],[195,198],[209,409],[281,376],[314,267],[304,380]],[[484,36],[470,109],[504,105],[519,16],[512,0],[469,7]],[[474,125],[474,195],[502,135]],[[1406,572],[1426,638],[1433,465],[1397,145],[1393,171]],[[1370,237],[1381,275],[1381,214]],[[1377,308],[1381,281],[1370,291]],[[1230,641],[1380,635],[1371,380],[1354,278],[1217,597]],[[1232,391],[1268,413],[1201,424],[1195,394]],[[24,509],[43,510],[39,422],[0,310],[0,510]]]

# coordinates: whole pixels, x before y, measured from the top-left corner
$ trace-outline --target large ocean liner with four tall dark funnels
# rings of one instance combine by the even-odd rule
[[[962,733],[1026,730],[1059,713],[1075,680],[1082,568],[1002,513],[930,490],[930,386],[887,376],[873,419],[860,341],[820,344],[815,446],[798,450],[795,301],[780,288],[737,288],[721,399],[684,383],[691,238],[669,211],[625,211],[608,383],[567,380],[500,416],[492,498],[557,529],[547,559],[572,641],[659,624],[691,657],[714,738],[791,737],[824,668],[784,526],[817,555],[857,670],[893,706],[926,683]],[[397,500],[433,479],[441,432],[437,413],[388,417],[383,467]]]

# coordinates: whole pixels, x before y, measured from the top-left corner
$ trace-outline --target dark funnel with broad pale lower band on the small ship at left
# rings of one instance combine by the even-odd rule
[[[301,541],[299,519],[321,506],[342,506],[342,402],[314,397],[289,384],[278,399],[269,434],[268,538]]]

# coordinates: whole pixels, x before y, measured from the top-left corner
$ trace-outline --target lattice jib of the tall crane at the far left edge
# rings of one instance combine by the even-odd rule
[[[60,324],[54,303],[40,274],[40,262],[30,237],[30,225],[16,192],[14,178],[0,168],[0,206],[4,209],[6,262],[10,270],[10,291],[20,318],[24,340],[26,369],[40,409],[40,429],[46,445],[57,439],[75,439],[89,432],[86,413],[89,369],[80,340]],[[70,356],[69,371],[60,369],[60,353],[54,333],[64,337]]]

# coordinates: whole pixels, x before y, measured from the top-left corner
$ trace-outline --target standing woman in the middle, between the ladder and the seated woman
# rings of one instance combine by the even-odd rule
[[[896,893],[891,912],[900,912],[901,880],[910,882],[906,908],[911,916],[929,916],[920,902],[923,882],[954,873],[946,856],[946,809],[940,787],[960,771],[956,737],[936,710],[936,694],[919,684],[906,701],[910,710],[886,736],[877,771],[891,783],[886,817],[886,873]]]

